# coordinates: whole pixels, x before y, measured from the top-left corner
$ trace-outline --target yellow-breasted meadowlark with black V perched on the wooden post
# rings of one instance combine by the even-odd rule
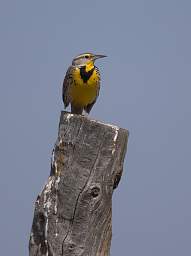
[[[69,66],[62,87],[64,107],[71,105],[71,113],[90,113],[100,91],[100,72],[95,61],[106,55],[83,53],[76,56]]]

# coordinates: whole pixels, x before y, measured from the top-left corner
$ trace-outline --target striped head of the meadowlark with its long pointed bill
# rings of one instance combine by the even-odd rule
[[[87,66],[91,69],[91,67],[94,67],[95,60],[104,58],[104,57],[106,56],[101,54],[83,53],[76,56],[73,59],[72,65],[78,66],[78,67]]]

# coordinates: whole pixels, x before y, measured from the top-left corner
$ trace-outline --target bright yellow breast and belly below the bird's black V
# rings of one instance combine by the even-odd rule
[[[73,72],[74,83],[70,88],[70,99],[73,105],[84,107],[92,103],[99,90],[99,76],[94,69],[92,75],[84,82],[81,75],[80,69],[76,68]]]

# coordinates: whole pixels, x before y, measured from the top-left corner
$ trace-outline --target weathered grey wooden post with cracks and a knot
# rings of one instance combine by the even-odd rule
[[[128,131],[61,112],[51,173],[35,203],[30,256],[108,256],[112,194]]]

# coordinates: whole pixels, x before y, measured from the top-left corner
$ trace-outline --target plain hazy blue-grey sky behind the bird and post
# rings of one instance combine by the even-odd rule
[[[28,255],[72,58],[108,55],[90,117],[130,131],[112,256],[191,255],[191,1],[0,0],[0,247]]]

